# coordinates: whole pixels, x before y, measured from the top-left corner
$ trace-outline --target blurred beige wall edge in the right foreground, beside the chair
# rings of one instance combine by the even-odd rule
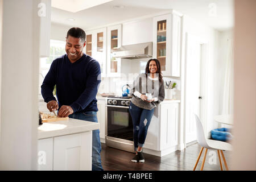
[[[256,1],[234,1],[232,170],[256,170]]]

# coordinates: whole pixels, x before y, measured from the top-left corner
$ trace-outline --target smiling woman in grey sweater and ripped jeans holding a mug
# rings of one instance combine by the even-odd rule
[[[134,80],[132,91],[133,98],[131,98],[129,111],[133,120],[133,139],[136,155],[131,162],[143,163],[142,147],[146,140],[147,129],[156,104],[164,100],[164,82],[160,62],[157,59],[147,61],[145,73],[140,74]]]

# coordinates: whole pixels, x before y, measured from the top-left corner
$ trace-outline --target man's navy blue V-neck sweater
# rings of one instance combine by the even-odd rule
[[[75,63],[67,54],[55,59],[44,78],[41,93],[44,102],[56,100],[59,109],[62,105],[71,106],[75,112],[98,111],[96,94],[101,82],[101,69],[98,61],[83,54]]]

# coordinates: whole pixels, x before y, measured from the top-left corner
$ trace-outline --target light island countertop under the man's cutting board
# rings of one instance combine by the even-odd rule
[[[58,137],[100,129],[100,123],[69,118],[65,121],[43,123],[38,127],[38,139]]]

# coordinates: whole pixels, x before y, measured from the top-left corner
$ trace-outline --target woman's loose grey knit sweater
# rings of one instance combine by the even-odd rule
[[[135,80],[133,81],[133,87],[131,92],[134,93],[138,91],[139,93],[145,95],[146,93],[151,93],[152,98],[157,97],[158,101],[156,102],[147,102],[143,101],[141,98],[133,95],[131,98],[131,103],[135,106],[140,107],[142,109],[151,110],[156,107],[157,104],[164,100],[164,82],[160,82],[159,80],[151,80],[148,78],[150,74],[146,77],[145,73],[141,73]]]

